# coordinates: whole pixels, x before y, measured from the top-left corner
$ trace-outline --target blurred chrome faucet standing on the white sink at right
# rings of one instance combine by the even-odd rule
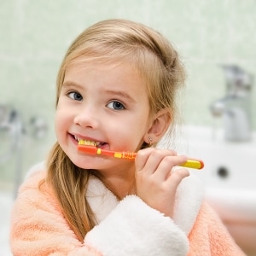
[[[253,76],[241,67],[222,66],[226,78],[226,95],[212,102],[213,116],[222,116],[224,137],[228,141],[251,138],[251,90]]]

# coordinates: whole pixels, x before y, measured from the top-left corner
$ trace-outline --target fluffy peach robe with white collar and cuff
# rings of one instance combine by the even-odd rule
[[[45,168],[37,166],[20,186],[10,231],[14,256],[245,255],[203,201],[201,183],[192,175],[178,186],[173,218],[148,207],[137,195],[117,201],[91,177],[86,197],[98,224],[83,243],[67,224],[53,189],[47,183],[38,189],[45,175]]]

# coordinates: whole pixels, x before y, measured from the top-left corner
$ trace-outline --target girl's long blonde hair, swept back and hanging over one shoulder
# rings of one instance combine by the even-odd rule
[[[185,75],[177,51],[159,32],[130,20],[104,20],[87,28],[75,39],[61,63],[56,105],[66,69],[80,56],[86,61],[129,63],[136,67],[147,85],[151,113],[169,109],[173,124],[175,96]],[[86,233],[96,224],[85,198],[91,174],[102,179],[97,172],[75,166],[55,143],[49,154],[46,180],[55,189],[63,214],[80,241],[84,241]]]

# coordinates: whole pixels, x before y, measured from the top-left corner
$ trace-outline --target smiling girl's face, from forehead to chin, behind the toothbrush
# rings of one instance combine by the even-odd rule
[[[137,151],[147,139],[149,125],[146,86],[131,66],[77,61],[67,68],[55,132],[76,166],[103,170],[128,164],[129,160],[80,153],[78,138],[96,142],[98,148]]]

